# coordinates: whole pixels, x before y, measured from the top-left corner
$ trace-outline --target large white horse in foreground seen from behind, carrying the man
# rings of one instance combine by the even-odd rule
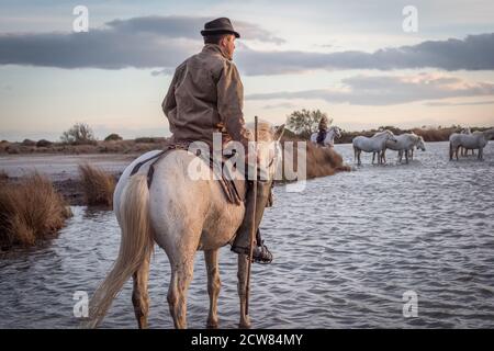
[[[268,165],[267,177],[271,180],[281,161],[279,139],[283,128],[284,125],[274,128],[266,122],[259,122],[258,126],[259,143],[256,148],[259,165]],[[114,192],[114,208],[122,229],[120,252],[112,270],[90,302],[86,327],[97,327],[102,321],[112,301],[131,276],[134,280],[132,303],[137,324],[139,328],[147,327],[147,283],[155,242],[166,251],[170,262],[171,278],[167,299],[176,328],[187,328],[187,292],[192,280],[194,256],[198,250],[204,251],[210,295],[206,325],[217,327],[216,309],[221,285],[218,249],[233,241],[244,218],[244,203],[236,205],[227,202],[209,165],[188,150],[170,150],[160,158],[154,165],[149,188],[149,165],[145,163],[138,172],[130,176],[136,163],[158,152],[149,151],[134,160],[119,180]],[[199,167],[199,174],[192,178],[189,172],[191,165],[202,165]],[[194,166],[193,169],[198,167]],[[247,256],[239,254],[239,326],[243,328],[250,326],[245,310],[247,264]]]

